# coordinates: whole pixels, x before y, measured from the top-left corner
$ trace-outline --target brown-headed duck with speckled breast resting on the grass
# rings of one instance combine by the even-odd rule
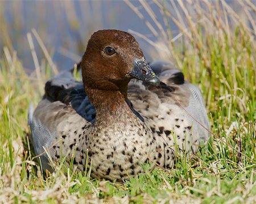
[[[78,64],[48,80],[28,109],[32,147],[44,170],[65,158],[97,179],[125,180],[156,166],[172,168],[177,150],[207,143],[209,121],[198,87],[172,63],[147,62],[130,33],[94,32]],[[86,161],[88,165],[86,165]]]

